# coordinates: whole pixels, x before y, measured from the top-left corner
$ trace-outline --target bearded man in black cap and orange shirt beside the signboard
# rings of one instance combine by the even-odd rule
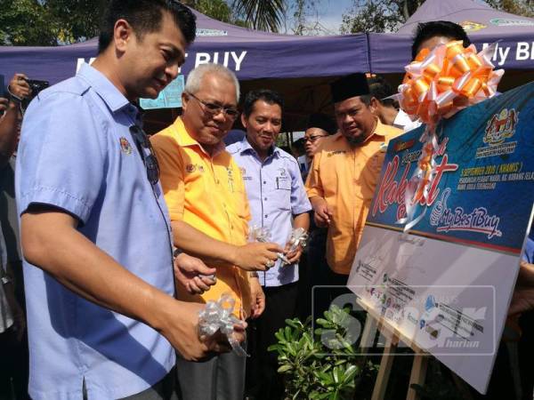
[[[364,74],[332,84],[339,132],[322,140],[313,157],[306,191],[314,220],[328,227],[328,266],[324,284],[344,285],[360,242],[375,193],[387,143],[402,131],[384,125],[373,114]],[[327,269],[328,268],[323,268]]]

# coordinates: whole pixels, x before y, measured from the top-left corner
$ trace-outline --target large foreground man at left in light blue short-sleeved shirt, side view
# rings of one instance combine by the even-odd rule
[[[168,399],[174,348],[221,348],[198,339],[202,307],[173,297],[158,164],[132,104],[177,76],[195,28],[178,2],[112,0],[93,66],[28,108],[16,195],[34,400]]]

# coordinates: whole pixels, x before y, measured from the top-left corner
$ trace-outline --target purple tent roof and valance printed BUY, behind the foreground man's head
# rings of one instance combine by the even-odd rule
[[[365,34],[295,36],[260,32],[197,16],[197,39],[188,48],[182,74],[201,63],[216,62],[235,71],[239,80],[343,76],[367,72]],[[0,47],[0,73],[24,72],[51,84],[73,76],[81,62],[96,56],[97,38],[56,47]],[[6,78],[7,79],[7,78]]]

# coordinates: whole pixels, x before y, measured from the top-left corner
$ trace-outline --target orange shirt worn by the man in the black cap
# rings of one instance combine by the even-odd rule
[[[369,205],[384,162],[385,148],[400,129],[377,122],[375,132],[352,147],[341,133],[325,138],[313,157],[306,180],[308,197],[323,197],[332,212],[327,260],[337,274],[348,275],[360,243]]]

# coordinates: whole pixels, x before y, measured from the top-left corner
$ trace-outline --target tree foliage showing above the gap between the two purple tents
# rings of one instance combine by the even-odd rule
[[[392,32],[416,12],[425,0],[353,0],[352,8],[344,12],[340,31]]]

